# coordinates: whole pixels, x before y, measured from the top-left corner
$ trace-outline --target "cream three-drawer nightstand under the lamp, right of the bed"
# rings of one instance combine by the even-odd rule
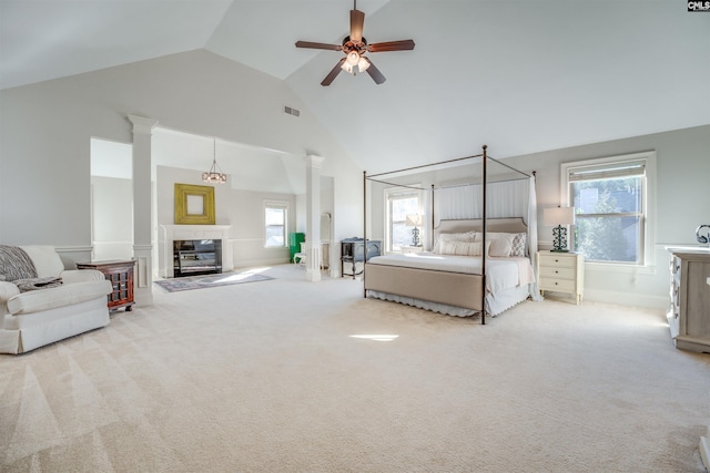
[[[537,274],[540,292],[546,290],[569,294],[581,302],[585,294],[585,257],[579,253],[544,250],[537,253]]]

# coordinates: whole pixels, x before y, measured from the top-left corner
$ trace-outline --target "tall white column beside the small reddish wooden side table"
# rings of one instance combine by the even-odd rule
[[[151,225],[151,137],[158,120],[129,115],[133,123],[133,257],[136,261],[134,299],[153,304],[153,245]]]

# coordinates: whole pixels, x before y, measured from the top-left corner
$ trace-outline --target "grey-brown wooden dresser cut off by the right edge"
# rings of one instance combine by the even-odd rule
[[[710,250],[668,247],[668,325],[676,348],[710,353]]]

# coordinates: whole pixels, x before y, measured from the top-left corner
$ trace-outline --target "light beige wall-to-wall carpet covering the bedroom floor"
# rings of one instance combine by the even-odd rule
[[[704,471],[710,356],[662,313],[548,299],[480,326],[303,271],[0,357],[0,470]]]

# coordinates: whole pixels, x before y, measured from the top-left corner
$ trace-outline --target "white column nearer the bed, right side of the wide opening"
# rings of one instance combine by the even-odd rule
[[[321,280],[321,164],[325,157],[307,155],[306,162],[306,280]]]

